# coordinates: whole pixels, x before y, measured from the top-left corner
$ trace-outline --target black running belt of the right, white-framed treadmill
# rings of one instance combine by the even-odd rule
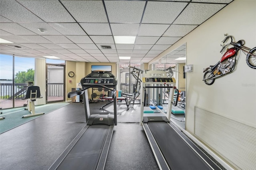
[[[172,170],[211,170],[210,166],[166,122],[148,122]]]

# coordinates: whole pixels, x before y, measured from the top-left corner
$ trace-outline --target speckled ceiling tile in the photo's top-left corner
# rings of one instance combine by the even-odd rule
[[[13,22],[43,22],[15,0],[1,0],[0,15]]]

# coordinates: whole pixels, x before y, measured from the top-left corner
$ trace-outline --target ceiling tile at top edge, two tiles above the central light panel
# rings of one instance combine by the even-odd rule
[[[140,23],[145,1],[104,1],[110,23]]]

